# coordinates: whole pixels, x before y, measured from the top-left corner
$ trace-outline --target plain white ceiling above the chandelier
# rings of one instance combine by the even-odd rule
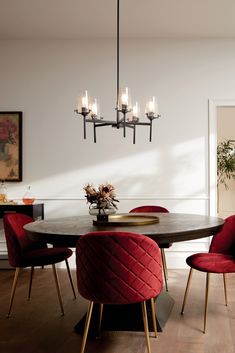
[[[235,0],[120,0],[127,38],[235,38]],[[0,39],[113,38],[116,0],[0,0]]]

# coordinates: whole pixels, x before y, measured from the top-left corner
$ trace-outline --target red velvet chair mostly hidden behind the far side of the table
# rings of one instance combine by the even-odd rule
[[[169,213],[169,211],[162,206],[138,206],[136,208],[133,208],[130,211],[130,213],[148,213],[148,212]],[[168,291],[168,284],[167,284],[168,271],[167,271],[167,265],[166,265],[166,254],[164,249],[168,249],[171,246],[172,246],[171,243],[159,244],[159,248],[161,249],[161,255],[162,255],[162,268],[163,268],[166,291]]]

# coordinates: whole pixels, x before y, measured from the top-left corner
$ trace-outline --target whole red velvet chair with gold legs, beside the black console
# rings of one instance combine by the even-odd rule
[[[63,260],[66,261],[66,266],[67,266],[74,298],[76,298],[72,277],[70,274],[69,264],[67,261],[67,259],[72,255],[72,250],[68,248],[48,248],[47,244],[44,242],[30,240],[26,236],[26,232],[23,228],[25,224],[30,222],[33,222],[33,219],[31,217],[20,213],[6,214],[3,217],[3,224],[5,229],[5,236],[6,236],[6,243],[7,243],[7,250],[8,250],[8,260],[10,265],[16,268],[7,316],[9,317],[11,313],[20,269],[24,267],[31,267],[29,292],[28,292],[28,300],[29,300],[31,295],[34,267],[45,266],[45,265],[52,265],[61,313],[62,315],[64,315],[64,309],[63,309],[63,304],[62,304],[62,299],[60,294],[60,286],[58,282],[58,276],[57,276],[55,264]]]

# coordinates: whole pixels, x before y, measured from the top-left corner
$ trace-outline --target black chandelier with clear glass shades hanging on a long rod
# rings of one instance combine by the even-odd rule
[[[104,126],[111,126],[117,129],[123,128],[123,137],[126,137],[126,130],[133,130],[133,144],[136,140],[136,127],[149,127],[149,141],[152,141],[152,124],[153,120],[158,119],[158,104],[156,98],[153,96],[146,103],[145,121],[140,120],[140,106],[136,102],[133,106],[131,104],[131,96],[128,87],[119,87],[119,13],[120,0],[117,0],[117,93],[116,93],[116,121],[106,120],[99,115],[99,106],[97,99],[92,99],[88,91],[79,96],[78,105],[74,112],[83,117],[83,136],[86,139],[87,124],[93,124],[94,142],[96,143],[96,129]]]

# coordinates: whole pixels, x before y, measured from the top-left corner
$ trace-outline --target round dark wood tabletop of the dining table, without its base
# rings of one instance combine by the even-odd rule
[[[131,214],[137,215],[137,214]],[[143,214],[144,215],[144,214]],[[75,246],[81,235],[94,231],[123,231],[144,234],[158,244],[174,243],[213,235],[224,223],[217,217],[183,213],[146,213],[159,217],[159,223],[133,226],[95,226],[94,216],[84,215],[36,221],[24,226],[31,239]]]

